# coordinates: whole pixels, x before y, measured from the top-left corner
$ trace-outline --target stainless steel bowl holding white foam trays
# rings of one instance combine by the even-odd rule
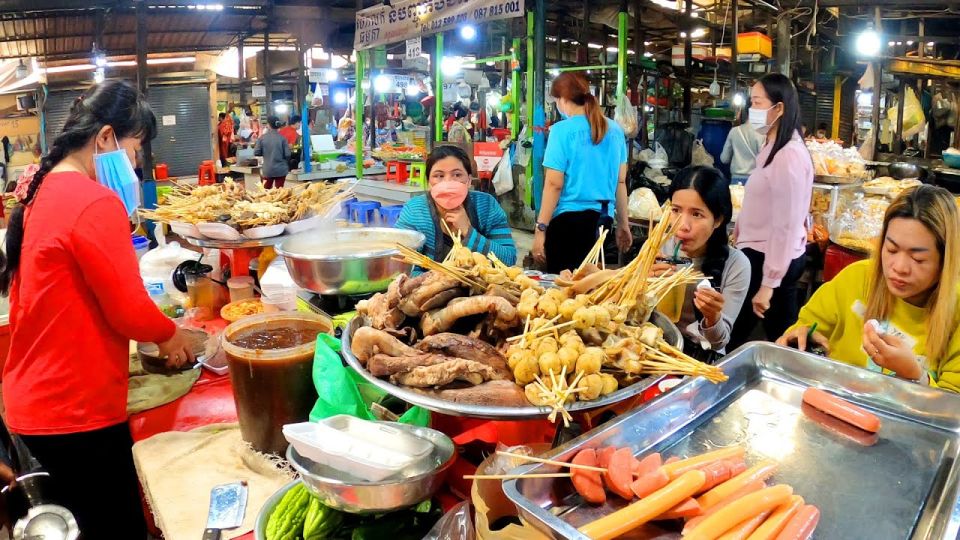
[[[287,461],[303,483],[323,504],[352,514],[379,514],[413,506],[433,496],[443,485],[454,460],[450,437],[437,430],[388,422],[433,443],[433,454],[424,463],[400,471],[391,479],[367,482],[311,461],[290,445]]]

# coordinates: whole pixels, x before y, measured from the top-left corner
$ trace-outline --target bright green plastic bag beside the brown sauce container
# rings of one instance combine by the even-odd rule
[[[317,422],[338,414],[349,414],[364,420],[379,420],[371,412],[371,404],[387,393],[368,383],[340,359],[340,340],[329,335],[317,336],[313,355],[313,384],[317,388],[317,403],[310,411],[310,421]],[[430,411],[411,407],[396,420],[402,424],[427,426]]]

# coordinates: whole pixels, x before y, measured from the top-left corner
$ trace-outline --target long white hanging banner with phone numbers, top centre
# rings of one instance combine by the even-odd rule
[[[429,36],[464,24],[521,17],[524,0],[393,0],[357,12],[353,48],[358,51]]]

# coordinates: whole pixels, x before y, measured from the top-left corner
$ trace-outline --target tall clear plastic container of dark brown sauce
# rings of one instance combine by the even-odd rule
[[[317,334],[329,330],[324,319],[303,313],[257,315],[224,330],[240,433],[257,451],[282,455],[284,424],[307,420],[317,400]]]

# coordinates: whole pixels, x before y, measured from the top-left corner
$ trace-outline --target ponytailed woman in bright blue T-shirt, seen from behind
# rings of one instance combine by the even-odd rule
[[[616,217],[617,247],[630,248],[627,221],[627,147],[623,130],[603,116],[582,75],[564,73],[551,88],[564,118],[550,128],[543,157],[543,199],[533,258],[560,273],[580,265],[601,226]]]

